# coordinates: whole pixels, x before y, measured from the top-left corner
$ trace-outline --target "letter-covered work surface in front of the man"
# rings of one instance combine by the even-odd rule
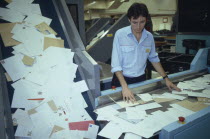
[[[120,92],[102,96],[99,98],[101,105],[96,110],[97,120],[109,123],[99,135],[109,138],[113,136],[111,134],[113,130],[117,130],[115,138],[120,137],[123,132],[145,138],[157,135],[164,126],[177,122],[179,117],[187,118],[208,107],[209,77],[209,75],[194,75],[193,78],[177,82],[182,92],[169,92],[168,88],[162,87],[161,84],[158,89],[154,89],[152,85],[148,88],[146,86],[134,88],[137,100],[134,104],[120,100]]]

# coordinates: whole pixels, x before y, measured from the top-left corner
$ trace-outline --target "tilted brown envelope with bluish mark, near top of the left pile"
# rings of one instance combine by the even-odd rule
[[[48,35],[48,34],[54,34],[57,35],[57,33],[50,27],[48,26],[45,22],[42,22],[38,25],[35,26],[41,33]]]

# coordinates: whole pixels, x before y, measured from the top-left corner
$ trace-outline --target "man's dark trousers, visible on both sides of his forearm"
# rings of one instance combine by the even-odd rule
[[[138,82],[142,82],[142,81],[146,80],[145,74],[143,74],[139,77],[133,77],[133,78],[129,78],[129,77],[124,76],[124,78],[125,78],[125,81],[127,82],[127,84],[138,83]],[[115,86],[115,87],[121,86],[120,81],[118,80],[115,73],[114,73],[113,78],[112,78],[111,86]]]

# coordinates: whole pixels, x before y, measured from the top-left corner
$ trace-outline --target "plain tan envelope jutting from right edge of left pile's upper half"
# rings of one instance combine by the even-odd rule
[[[64,40],[45,37],[44,38],[44,50],[50,46],[64,48]]]

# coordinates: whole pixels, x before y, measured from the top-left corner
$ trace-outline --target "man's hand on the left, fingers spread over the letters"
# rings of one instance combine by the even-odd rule
[[[128,87],[122,89],[122,95],[123,95],[123,100],[128,103],[129,101],[131,101],[132,103],[136,101],[133,92]]]

